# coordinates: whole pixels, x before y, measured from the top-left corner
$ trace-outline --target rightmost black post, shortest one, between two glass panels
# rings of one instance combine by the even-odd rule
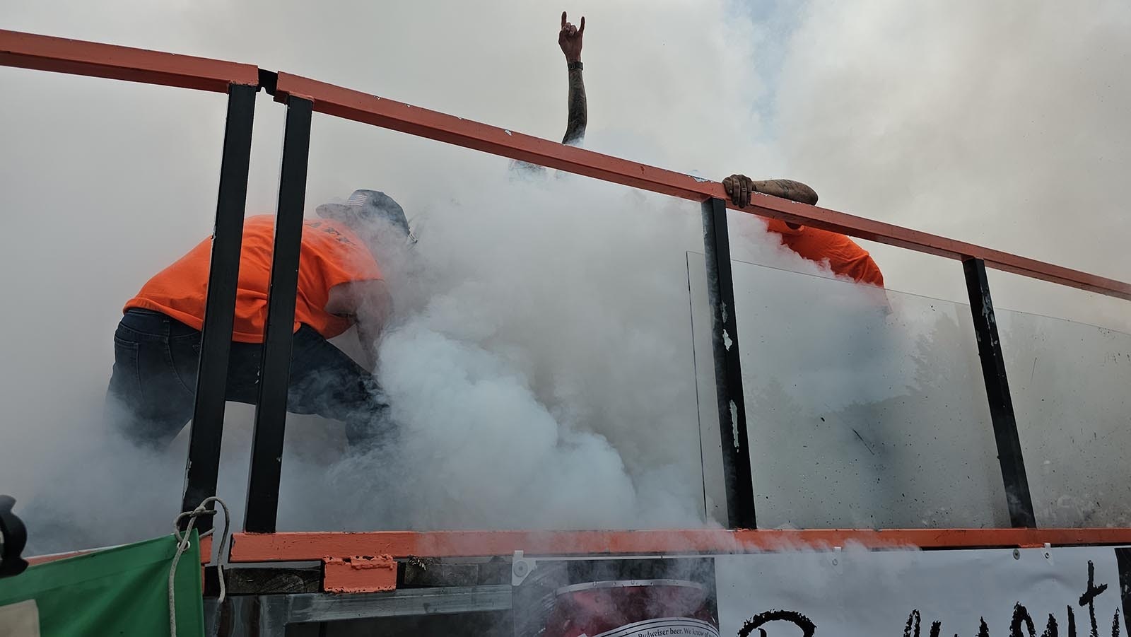
[[[998,320],[990,298],[986,265],[982,259],[962,259],[966,273],[966,291],[970,296],[970,313],[974,316],[974,333],[978,341],[978,358],[982,360],[982,377],[990,399],[990,420],[998,442],[998,462],[1005,483],[1005,500],[1009,520],[1015,527],[1036,527],[1033,513],[1033,497],[1029,494],[1029,479],[1025,475],[1025,458],[1021,457],[1021,439],[1017,433],[1017,418],[1013,415],[1013,399],[1009,395],[1005,378],[1005,358],[998,337]]]

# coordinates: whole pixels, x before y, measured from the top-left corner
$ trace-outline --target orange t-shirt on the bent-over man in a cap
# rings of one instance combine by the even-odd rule
[[[239,343],[264,342],[274,243],[274,215],[244,219],[232,330],[232,339]],[[126,303],[123,311],[131,308],[153,310],[201,329],[210,259],[211,239],[206,239],[150,278],[138,295]],[[380,278],[381,270],[373,256],[346,225],[330,219],[305,219],[299,256],[294,329],[305,324],[326,338],[349,329],[351,319],[326,311],[330,289],[342,283]]]

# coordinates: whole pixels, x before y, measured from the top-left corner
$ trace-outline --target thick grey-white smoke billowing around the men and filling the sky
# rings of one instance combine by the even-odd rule
[[[1131,270],[1131,222],[1111,195],[1131,165],[1120,72],[1131,10],[1114,0],[1072,11],[115,0],[97,11],[7,5],[0,19],[254,62],[558,138],[561,9],[587,16],[589,148],[716,179],[792,177],[832,208],[1116,278]],[[101,429],[102,393],[122,303],[210,229],[223,98],[16,69],[0,78],[0,491],[29,508],[38,550],[164,533],[184,436],[164,455],[138,454]],[[274,208],[283,109],[260,95],[256,117],[252,213]],[[705,523],[684,260],[701,249],[696,205],[553,173],[516,180],[502,160],[316,115],[308,208],[354,188],[388,191],[421,230],[418,253],[389,265],[398,312],[380,369],[406,434],[343,460],[333,423],[288,419],[283,527]],[[820,272],[766,241],[759,221],[733,219],[736,258]],[[873,253],[891,287],[965,296],[952,261]],[[992,282],[999,305],[1131,326],[1122,304],[1095,295]],[[765,378],[778,362],[805,371],[744,371]],[[236,515],[250,415],[228,408],[221,494]]]

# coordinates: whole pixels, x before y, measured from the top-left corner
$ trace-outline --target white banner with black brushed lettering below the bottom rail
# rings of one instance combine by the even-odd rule
[[[720,635],[1125,632],[1112,548],[720,556],[715,576]]]

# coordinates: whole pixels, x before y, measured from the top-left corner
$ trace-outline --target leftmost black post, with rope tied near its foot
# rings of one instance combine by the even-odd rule
[[[181,510],[192,510],[216,494],[221,439],[224,433],[224,397],[227,358],[232,345],[235,289],[243,241],[243,210],[248,200],[251,164],[251,126],[256,114],[256,86],[227,88],[227,123],[219,167],[219,196],[213,227],[211,261],[205,300],[205,324],[197,368],[197,395],[189,430],[189,458],[184,470]],[[211,528],[211,516],[197,522],[201,532]]]

